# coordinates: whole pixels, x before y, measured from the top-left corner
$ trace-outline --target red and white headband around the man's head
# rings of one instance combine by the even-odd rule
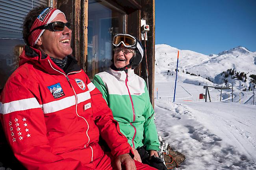
[[[35,19],[35,22],[33,23],[30,31],[35,29],[36,27],[39,27],[41,25],[49,24],[54,20],[54,18],[59,14],[63,13],[59,9],[48,7],[44,9],[44,11],[39,14],[39,16]],[[64,14],[64,13],[63,13]],[[65,16],[65,14],[64,14]],[[31,47],[33,47],[36,43],[37,40],[41,37],[45,29],[36,29],[33,31],[29,36],[28,36],[28,43]]]

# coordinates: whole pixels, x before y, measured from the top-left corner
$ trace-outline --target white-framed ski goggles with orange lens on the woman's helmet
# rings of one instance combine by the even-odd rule
[[[121,43],[127,48],[136,47],[136,39],[129,34],[117,34],[113,38],[113,45],[115,47],[118,47]]]

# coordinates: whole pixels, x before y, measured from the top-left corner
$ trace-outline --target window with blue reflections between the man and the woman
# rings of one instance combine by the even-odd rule
[[[124,13],[104,2],[89,0],[87,74],[93,78],[111,65],[112,38],[124,33]]]

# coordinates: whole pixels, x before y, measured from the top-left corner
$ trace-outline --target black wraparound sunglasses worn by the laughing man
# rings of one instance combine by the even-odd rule
[[[30,31],[29,34],[31,34],[33,31],[37,29],[49,29],[50,31],[63,31],[65,29],[65,26],[67,26],[69,29],[71,29],[71,24],[69,22],[64,23],[60,21],[51,22],[49,24],[41,25],[39,27],[36,27],[32,31]]]

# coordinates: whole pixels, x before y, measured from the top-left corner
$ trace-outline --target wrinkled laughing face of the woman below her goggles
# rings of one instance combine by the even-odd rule
[[[130,59],[133,56],[133,50],[124,46],[117,47],[114,53],[114,65],[117,68],[122,68],[130,63]]]

